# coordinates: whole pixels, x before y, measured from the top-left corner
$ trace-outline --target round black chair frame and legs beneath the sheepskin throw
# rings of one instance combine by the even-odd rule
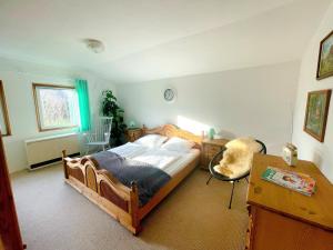
[[[266,150],[266,146],[260,141],[260,140],[255,140],[259,144],[261,144],[262,149],[260,150],[260,153],[263,153],[263,154],[266,154],[268,150]],[[235,177],[235,178],[229,178],[229,177],[225,177],[219,172],[216,172],[214,170],[214,166],[216,166],[219,163],[219,161],[223,158],[223,153],[224,151],[226,150],[225,147],[223,147],[223,149],[218,152],[211,160],[210,164],[209,164],[209,170],[210,170],[210,177],[206,181],[206,184],[210,183],[211,179],[212,178],[216,178],[218,180],[221,180],[221,181],[229,181],[232,183],[232,190],[231,190],[231,196],[230,196],[230,201],[229,201],[229,209],[231,209],[231,203],[232,203],[232,198],[233,198],[233,190],[234,190],[234,184],[235,182],[239,182],[241,179],[245,179],[248,181],[248,176],[250,174],[250,169],[249,171],[246,171],[245,173],[239,176],[239,177]],[[249,181],[248,181],[249,182]]]

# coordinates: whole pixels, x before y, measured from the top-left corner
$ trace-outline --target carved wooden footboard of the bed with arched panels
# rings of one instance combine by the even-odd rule
[[[72,159],[65,151],[62,156],[65,182],[137,234],[141,229],[137,183],[123,186],[107,170],[98,170],[89,156]]]

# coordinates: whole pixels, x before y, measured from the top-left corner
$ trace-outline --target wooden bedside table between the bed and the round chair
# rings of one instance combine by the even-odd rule
[[[226,144],[226,139],[205,139],[202,141],[201,168],[209,171],[212,158]]]

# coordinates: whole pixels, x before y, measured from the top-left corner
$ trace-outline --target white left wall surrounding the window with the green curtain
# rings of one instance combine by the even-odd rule
[[[2,80],[4,87],[12,131],[12,136],[3,138],[10,172],[27,168],[24,149],[26,139],[70,131],[38,131],[32,96],[32,82],[73,86],[75,78],[83,78],[89,82],[91,112],[98,110],[101,90],[108,88],[114,89],[109,81],[100,79],[91,73],[80,73],[75,70],[50,68],[34,63],[0,59],[0,80]]]

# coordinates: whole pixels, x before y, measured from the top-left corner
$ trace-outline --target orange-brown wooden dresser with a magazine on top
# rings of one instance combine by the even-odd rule
[[[306,197],[262,180],[268,166],[310,174],[316,180],[316,192]],[[245,249],[333,249],[333,184],[312,162],[299,161],[291,168],[281,157],[256,154],[248,204],[250,222]]]

